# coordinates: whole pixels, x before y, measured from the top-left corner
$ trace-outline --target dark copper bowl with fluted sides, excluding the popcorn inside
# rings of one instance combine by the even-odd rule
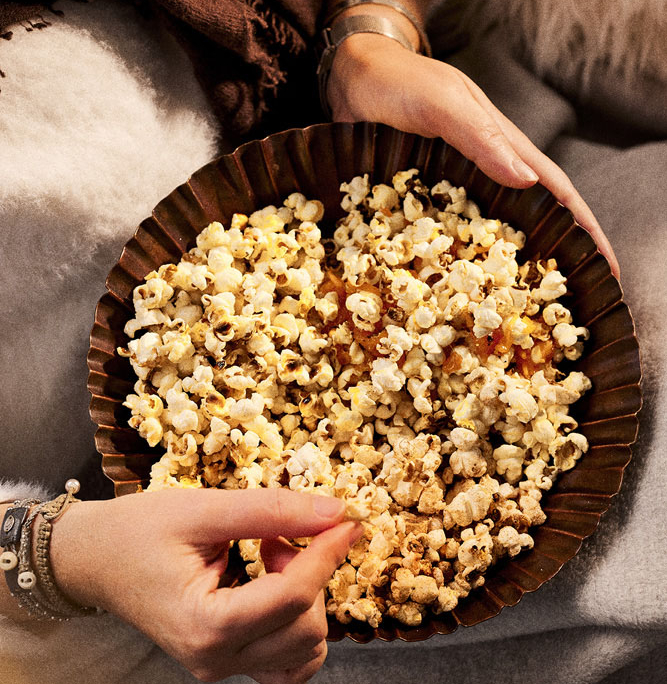
[[[374,638],[420,641],[487,620],[551,579],[594,532],[630,461],[641,406],[641,367],[634,323],[621,287],[588,233],[544,187],[504,188],[442,140],[370,123],[293,129],[246,143],[207,164],[155,207],[109,274],[109,292],[99,301],[90,337],[90,414],[98,425],[95,442],[102,468],[113,480],[117,496],[136,492],[147,485],[160,450],[149,448],[128,427],[130,412],[122,406],[135,377],[116,348],[128,341],[123,326],[133,315],[134,287],[161,264],[178,261],[211,221],[228,224],[234,212],[280,204],[298,190],[324,202],[326,235],[343,213],[338,190],[342,181],[361,173],[369,173],[372,182],[388,181],[396,171],[412,167],[421,170],[429,185],[446,178],[464,186],[484,216],[524,231],[527,241],[520,253],[524,259],[558,260],[571,292],[567,306],[577,324],[591,333],[584,356],[572,364],[593,381],[593,390],[573,407],[590,450],[543,498],[547,521],[534,529],[533,550],[494,566],[486,584],[451,613],[412,628],[391,620],[377,629],[331,620],[331,640],[347,636],[360,643]]]

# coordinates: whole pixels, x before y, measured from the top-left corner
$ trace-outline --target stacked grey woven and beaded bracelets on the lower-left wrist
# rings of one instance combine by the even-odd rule
[[[67,480],[65,494],[41,502],[38,499],[14,501],[7,509],[0,528],[0,569],[4,570],[7,587],[19,605],[37,618],[68,620],[72,617],[95,615],[97,608],[80,606],[58,588],[50,563],[51,528],[69,506],[78,501],[78,480]],[[33,524],[37,525],[37,542],[32,564]]]

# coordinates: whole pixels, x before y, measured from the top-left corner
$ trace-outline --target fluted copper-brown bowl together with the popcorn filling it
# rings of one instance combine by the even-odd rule
[[[107,287],[89,388],[116,494],[343,499],[364,535],[326,589],[331,639],[493,617],[621,486],[641,370],[617,280],[545,188],[442,140],[320,124],[243,145],[157,205]],[[258,540],[234,557],[264,572]]]

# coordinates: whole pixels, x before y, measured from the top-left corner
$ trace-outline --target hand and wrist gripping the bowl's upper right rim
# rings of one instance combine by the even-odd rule
[[[419,15],[419,3],[403,0],[402,4]],[[364,4],[338,18],[351,14],[390,18],[414,45],[419,43],[412,24],[390,7]],[[502,185],[527,188],[539,181],[591,234],[619,276],[609,240],[565,172],[458,69],[410,52],[386,36],[358,33],[336,51],[328,101],[335,121],[376,121],[408,133],[441,137]]]

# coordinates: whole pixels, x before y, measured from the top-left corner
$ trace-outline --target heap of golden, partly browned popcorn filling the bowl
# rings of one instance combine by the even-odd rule
[[[150,273],[119,350],[138,377],[125,406],[164,448],[149,490],[343,499],[364,534],[327,611],[418,625],[532,548],[543,492],[588,448],[568,407],[591,383],[557,368],[588,331],[556,262],[519,264],[525,236],[463,188],[410,169],[341,191],[333,240],[293,193]],[[239,548],[261,575],[258,540]]]

